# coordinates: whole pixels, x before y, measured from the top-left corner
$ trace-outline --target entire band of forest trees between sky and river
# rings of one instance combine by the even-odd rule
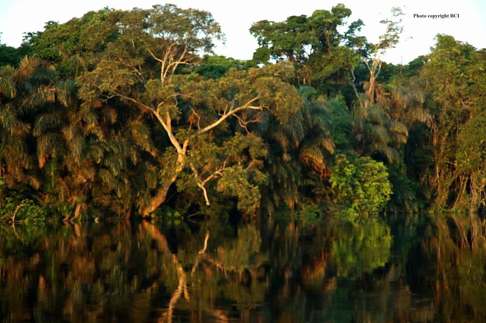
[[[241,61],[206,11],[105,8],[0,46],[0,218],[270,213],[366,221],[486,200],[486,52],[382,61],[342,4],[259,21]],[[346,32],[343,26],[347,26]]]

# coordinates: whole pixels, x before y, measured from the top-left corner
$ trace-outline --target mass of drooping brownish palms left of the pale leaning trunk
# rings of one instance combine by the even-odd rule
[[[74,81],[35,57],[0,69],[2,179],[38,190],[65,219],[90,205],[127,215],[154,188],[149,128],[129,107],[83,105],[76,95]]]

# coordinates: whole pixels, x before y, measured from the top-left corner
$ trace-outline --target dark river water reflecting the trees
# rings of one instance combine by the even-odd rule
[[[486,322],[484,223],[4,226],[0,320]]]

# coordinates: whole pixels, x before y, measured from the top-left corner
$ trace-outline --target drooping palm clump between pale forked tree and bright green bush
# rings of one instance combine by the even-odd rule
[[[286,122],[269,117],[257,131],[269,152],[269,185],[263,196],[269,212],[281,203],[294,208],[305,186],[315,185],[329,174],[330,155],[334,153],[329,101],[317,97],[310,86],[300,87],[299,95],[303,102]]]

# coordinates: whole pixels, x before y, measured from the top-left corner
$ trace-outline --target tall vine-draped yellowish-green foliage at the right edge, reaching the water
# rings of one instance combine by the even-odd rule
[[[482,51],[452,36],[436,39],[421,70],[436,120],[436,133],[429,135],[436,147],[432,165],[421,175],[436,190],[436,207],[475,211],[484,204],[486,60]]]

